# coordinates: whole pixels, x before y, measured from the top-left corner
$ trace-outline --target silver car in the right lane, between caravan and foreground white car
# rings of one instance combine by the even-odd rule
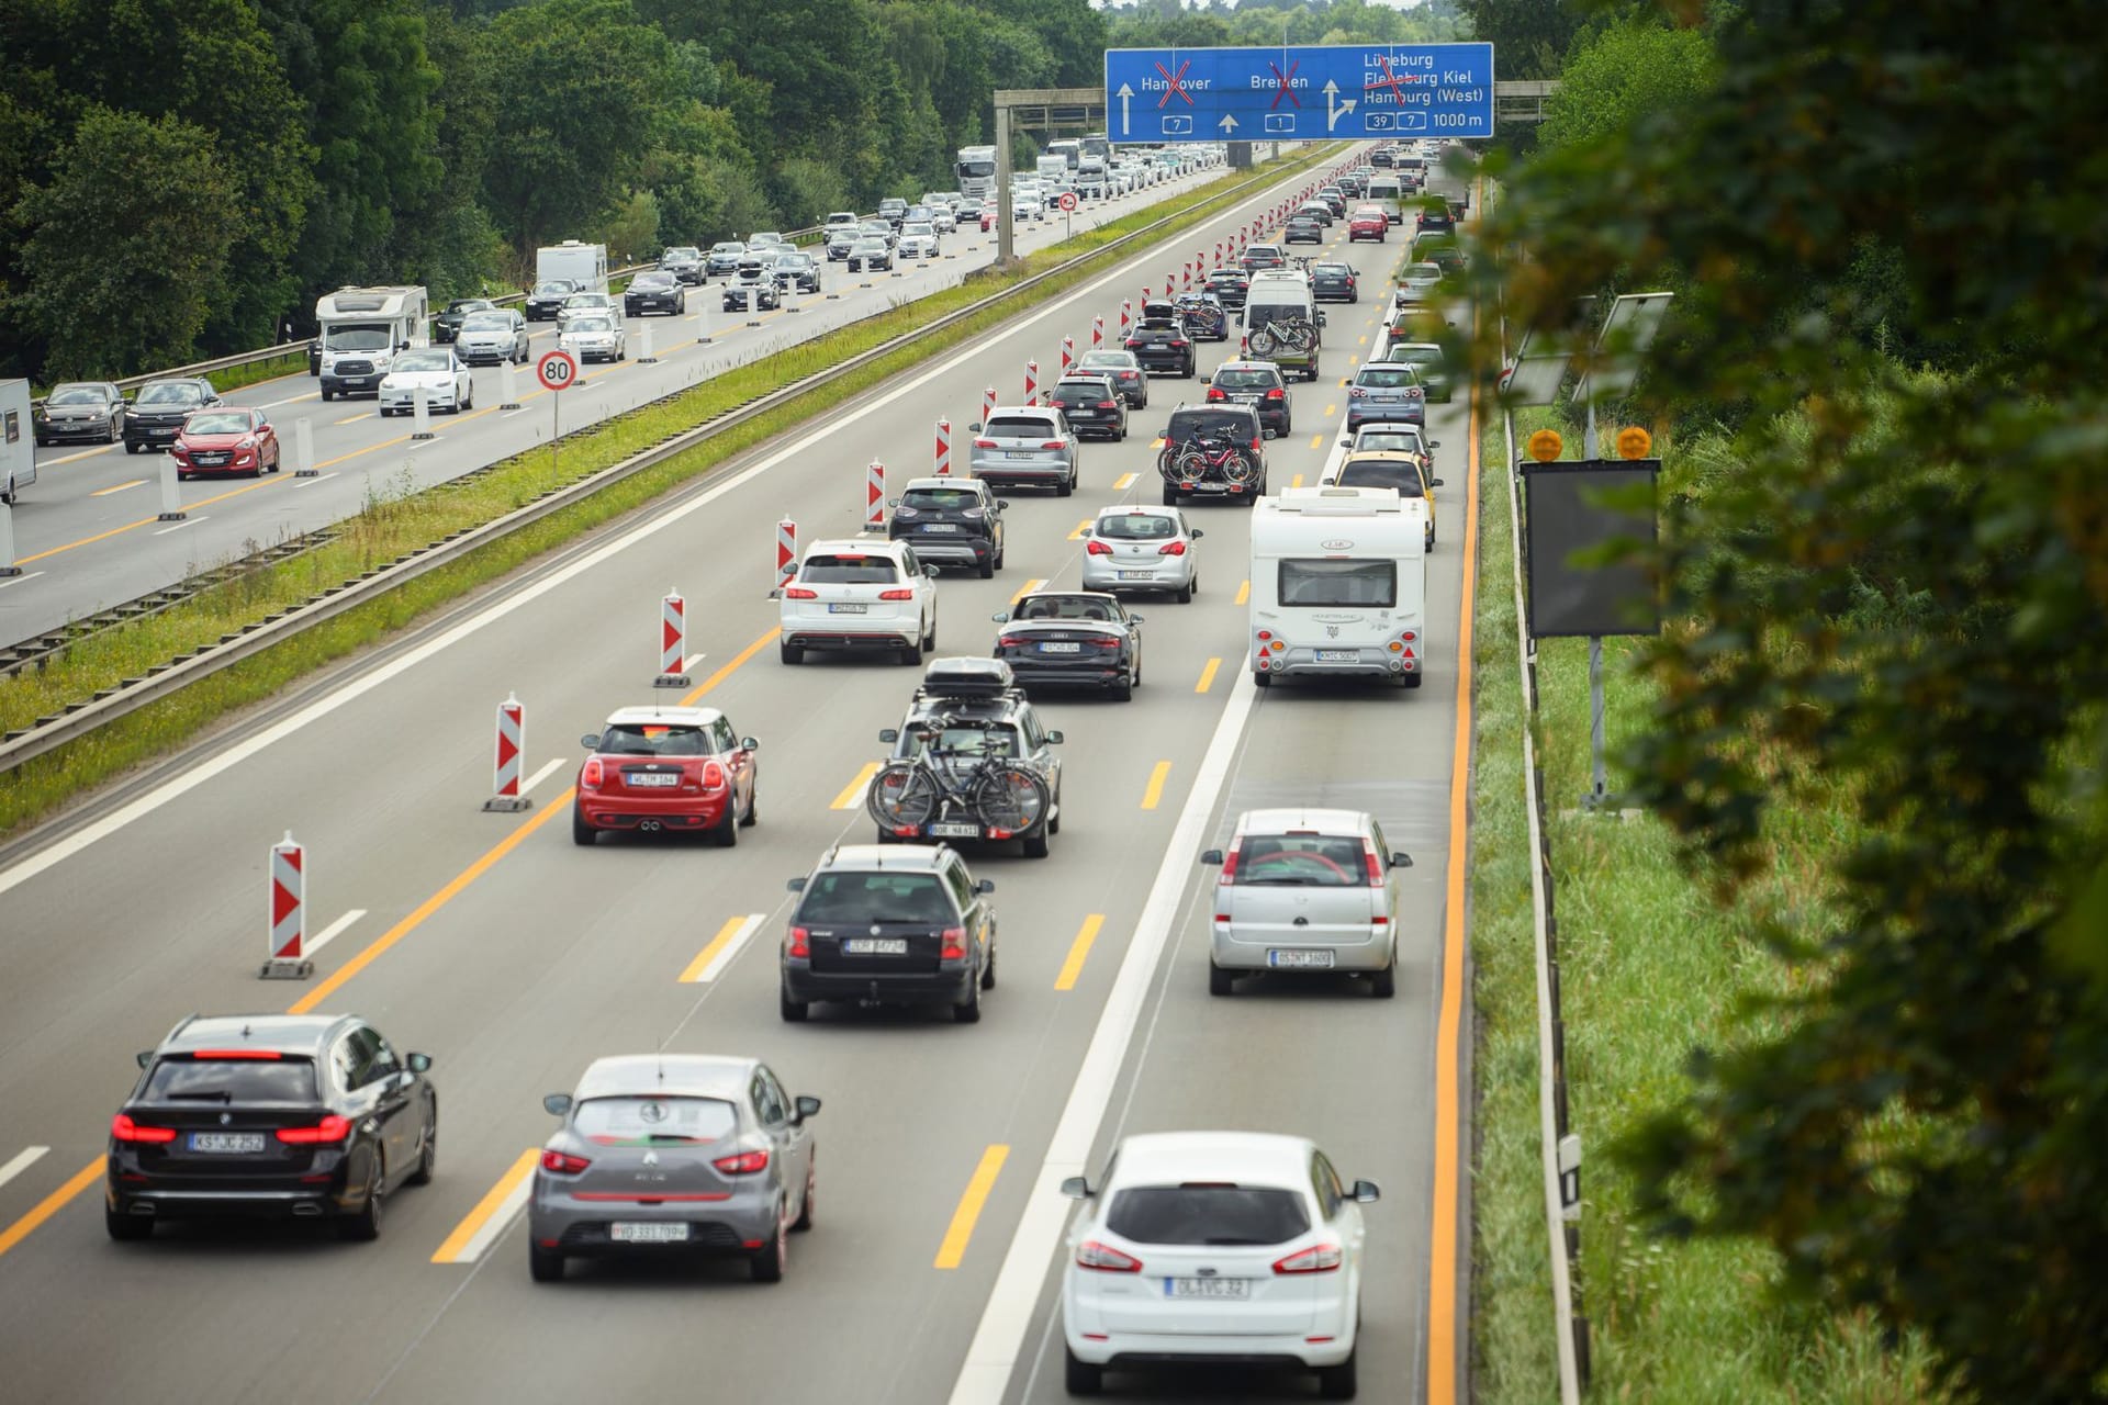
[[[1214,887],[1208,994],[1261,971],[1353,971],[1398,994],[1398,883],[1412,857],[1383,845],[1366,811],[1252,809],[1223,849]]]

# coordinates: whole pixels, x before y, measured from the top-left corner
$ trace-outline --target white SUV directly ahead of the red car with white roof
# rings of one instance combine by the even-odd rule
[[[936,649],[936,567],[915,548],[883,537],[814,541],[797,579],[778,592],[784,664],[807,649],[885,649],[921,664]]]

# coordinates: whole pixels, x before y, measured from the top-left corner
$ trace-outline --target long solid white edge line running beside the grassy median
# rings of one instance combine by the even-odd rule
[[[1029,314],[1027,318],[1022,318],[1018,322],[1016,331],[1024,331],[1024,329],[1029,329],[1029,326],[1033,326],[1037,322],[1046,322],[1046,320],[1052,320],[1056,316],[1062,316],[1062,314],[1067,314],[1067,310],[1073,303],[1079,303],[1086,297],[1098,295],[1105,289],[1119,286],[1124,280],[1134,278],[1134,268],[1132,268],[1134,263],[1147,261],[1151,257],[1155,257],[1155,255],[1134,255],[1132,259],[1119,261],[1115,268],[1107,270],[1105,274],[1092,278],[1090,282],[1079,284],[1075,289],[1075,293],[1071,293],[1069,297],[1065,297],[1060,301],[1054,301],[1054,303],[1046,303],[1037,314]],[[858,417],[868,417],[868,415],[885,409],[887,404],[915,394],[917,390],[921,390],[930,381],[938,379],[940,375],[951,375],[959,367],[972,364],[974,360],[978,360],[982,356],[987,356],[987,352],[978,343],[963,345],[959,352],[955,352],[953,356],[946,356],[944,360],[936,362],[934,367],[930,367],[921,375],[894,385],[890,392],[885,392],[877,400],[871,400],[868,404],[864,404],[858,411]],[[567,586],[573,579],[578,579],[580,575],[584,575],[586,571],[592,571],[594,567],[599,567],[603,562],[616,560],[618,556],[622,556],[626,552],[632,552],[639,541],[643,541],[647,537],[656,537],[658,533],[666,531],[668,527],[685,520],[689,514],[702,512],[704,508],[715,506],[719,499],[723,499],[725,495],[729,495],[729,493],[734,493],[738,489],[744,489],[748,482],[753,482],[761,474],[767,474],[778,463],[788,463],[790,459],[795,459],[799,455],[807,455],[809,457],[816,449],[822,449],[824,444],[835,444],[841,438],[841,432],[839,432],[839,428],[835,423],[837,419],[839,419],[839,415],[831,415],[826,419],[824,428],[814,430],[812,434],[805,434],[803,438],[793,440],[790,444],[784,444],[782,449],[778,449],[769,457],[761,459],[759,463],[755,463],[750,468],[740,470],[738,474],[734,474],[731,478],[725,478],[723,482],[719,482],[713,489],[704,489],[702,493],[698,493],[696,497],[687,499],[679,508],[670,508],[670,510],[666,510],[664,514],[660,514],[656,518],[639,522],[637,527],[628,529],[626,533],[622,533],[613,541],[607,541],[605,546],[601,546],[601,548],[597,548],[592,552],[586,552],[584,556],[580,556],[571,565],[563,567],[561,571],[552,571],[550,575],[544,575],[540,581],[535,581],[531,586],[525,586],[525,588],[521,588],[521,590],[516,590],[516,592],[512,592],[512,594],[508,594],[504,598],[491,600],[491,605],[487,609],[479,611],[476,615],[470,615],[468,619],[464,619],[462,624],[453,626],[451,630],[447,630],[438,638],[430,638],[424,645],[419,645],[419,647],[415,647],[415,649],[398,655],[396,659],[390,659],[388,664],[375,668],[371,674],[365,674],[363,678],[354,678],[352,682],[344,685],[341,689],[337,689],[329,697],[323,697],[323,699],[316,699],[316,701],[308,704],[306,708],[301,708],[293,716],[285,718],[276,727],[266,727],[264,731],[255,733],[247,741],[238,741],[236,746],[232,746],[226,752],[213,756],[211,760],[200,763],[194,771],[186,771],[183,775],[177,775],[177,777],[169,779],[164,786],[158,786],[158,788],[145,792],[143,796],[139,796],[131,805],[124,805],[124,807],[120,807],[120,809],[103,815],[95,824],[84,826],[84,828],[76,830],[74,834],[67,834],[65,838],[61,838],[59,843],[51,845],[48,849],[40,849],[40,851],[27,855],[25,859],[21,859],[19,864],[15,864],[13,868],[0,872],[0,893],[6,893],[11,889],[27,883],[30,878],[38,876],[40,872],[44,872],[48,868],[57,868],[59,864],[63,864],[65,859],[74,857],[76,853],[82,853],[89,847],[97,845],[99,840],[110,838],[112,834],[116,834],[118,830],[122,830],[131,822],[141,819],[145,815],[152,815],[162,805],[190,794],[192,790],[196,790],[204,781],[221,775],[223,771],[232,771],[240,763],[245,763],[251,756],[259,754],[264,748],[268,748],[268,746],[272,746],[276,741],[282,741],[285,737],[291,737],[291,735],[297,735],[297,733],[306,731],[316,720],[329,716],[337,708],[344,708],[346,704],[352,704],[352,701],[365,697],[367,693],[371,693],[373,689],[382,687],[384,682],[392,682],[394,678],[398,678],[401,674],[407,674],[411,668],[417,668],[426,659],[434,659],[434,657],[443,655],[445,651],[453,649],[455,645],[460,645],[468,636],[476,634],[479,630],[485,630],[487,626],[497,624],[500,619],[504,619],[512,611],[525,609],[527,605],[540,600],[544,594],[557,590],[559,586]],[[192,520],[200,520],[200,518],[192,518]],[[1231,697],[1235,699],[1237,695],[1244,695],[1244,693],[1250,693],[1250,689],[1233,689]]]

